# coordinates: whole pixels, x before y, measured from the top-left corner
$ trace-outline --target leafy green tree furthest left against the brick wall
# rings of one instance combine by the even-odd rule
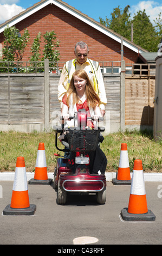
[[[3,60],[14,62],[16,57],[17,61],[22,61],[28,41],[29,32],[27,29],[24,29],[24,34],[21,35],[15,26],[10,28],[7,26],[4,29]]]

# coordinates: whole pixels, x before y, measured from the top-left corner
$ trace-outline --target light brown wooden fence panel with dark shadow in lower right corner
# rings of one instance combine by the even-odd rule
[[[155,77],[126,77],[125,125],[153,125]]]

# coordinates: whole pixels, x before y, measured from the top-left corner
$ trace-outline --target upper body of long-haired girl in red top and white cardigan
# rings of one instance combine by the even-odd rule
[[[69,126],[73,126],[73,121],[68,121],[69,116],[74,116],[74,112],[79,109],[85,108],[88,117],[92,117],[95,121],[102,117],[99,108],[100,98],[95,93],[85,70],[80,69],[74,72],[62,102],[62,116]],[[92,121],[89,120],[87,125],[94,127]]]

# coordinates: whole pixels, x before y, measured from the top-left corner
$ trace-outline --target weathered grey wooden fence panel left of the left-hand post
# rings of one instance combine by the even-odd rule
[[[44,122],[43,77],[8,76],[1,81],[5,81],[1,86],[1,124]]]

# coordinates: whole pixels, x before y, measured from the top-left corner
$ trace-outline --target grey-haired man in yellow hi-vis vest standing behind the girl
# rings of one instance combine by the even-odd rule
[[[102,73],[98,62],[88,59],[88,45],[85,42],[77,42],[74,49],[75,59],[69,60],[63,66],[59,86],[58,99],[62,108],[62,97],[66,93],[70,80],[75,70],[84,69],[92,82],[95,92],[99,95],[101,104],[100,111],[102,116],[105,114],[105,105],[107,104],[105,86],[103,83]]]

